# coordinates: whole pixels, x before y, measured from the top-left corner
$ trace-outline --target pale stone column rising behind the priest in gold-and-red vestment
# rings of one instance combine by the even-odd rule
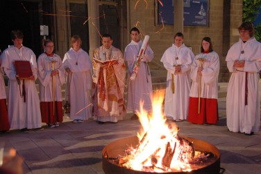
[[[88,0],[88,17],[91,17],[89,20],[89,42],[90,42],[90,50],[89,55],[92,58],[93,51],[97,47],[100,46],[100,35],[97,29],[100,29],[99,24],[99,1],[97,0]],[[93,23],[93,24],[92,24]]]

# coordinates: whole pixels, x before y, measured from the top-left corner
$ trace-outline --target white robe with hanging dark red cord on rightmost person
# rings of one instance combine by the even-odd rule
[[[241,51],[244,50],[244,54]],[[235,68],[235,60],[244,60],[244,68]],[[250,134],[260,129],[259,74],[261,70],[261,43],[250,38],[245,43],[239,39],[226,56],[229,72],[232,72],[226,96],[226,123],[231,132]],[[245,106],[247,72],[248,97]]]

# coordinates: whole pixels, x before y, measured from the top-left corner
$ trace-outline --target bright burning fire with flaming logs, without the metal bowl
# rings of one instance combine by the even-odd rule
[[[120,164],[135,171],[192,171],[190,161],[195,151],[192,143],[178,136],[178,127],[168,123],[162,113],[164,90],[158,90],[153,96],[153,112],[142,109],[137,113],[142,130],[137,134],[140,143],[126,150],[126,157]]]

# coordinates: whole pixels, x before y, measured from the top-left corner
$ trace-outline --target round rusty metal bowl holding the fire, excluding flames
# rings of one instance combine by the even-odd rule
[[[203,166],[202,168],[198,168],[197,170],[191,171],[191,172],[166,172],[166,173],[187,173],[187,174],[191,174],[191,173],[200,173],[200,174],[213,174],[213,173],[219,173],[220,170],[220,152],[219,150],[212,144],[199,140],[199,139],[194,139],[194,138],[190,138],[190,137],[184,137],[185,139],[187,139],[188,141],[193,142],[194,144],[194,149],[201,151],[201,152],[212,152],[216,157],[217,160],[213,161],[212,164],[208,165],[208,166]],[[137,139],[137,136],[131,136],[128,138],[124,138],[124,139],[119,139],[117,141],[113,141],[112,143],[109,143],[108,145],[106,145],[105,148],[103,148],[103,171],[106,174],[118,174],[118,173],[124,173],[124,174],[128,174],[128,173],[144,173],[147,174],[148,172],[144,172],[144,171],[134,171],[132,169],[128,169],[128,168],[124,168],[121,166],[118,166],[116,164],[112,164],[110,163],[110,161],[108,161],[106,159],[106,154],[108,155],[108,157],[118,157],[119,155],[123,155],[125,156],[125,150],[126,148],[133,146],[135,147],[135,145],[137,145],[139,143],[139,140]]]

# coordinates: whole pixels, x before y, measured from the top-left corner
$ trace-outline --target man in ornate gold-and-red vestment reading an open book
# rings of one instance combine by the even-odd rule
[[[102,46],[95,49],[93,64],[92,103],[94,120],[118,122],[126,113],[124,101],[125,62],[121,51],[112,46],[110,34],[103,34]],[[102,61],[103,63],[99,63]],[[106,63],[107,61],[107,63]]]

